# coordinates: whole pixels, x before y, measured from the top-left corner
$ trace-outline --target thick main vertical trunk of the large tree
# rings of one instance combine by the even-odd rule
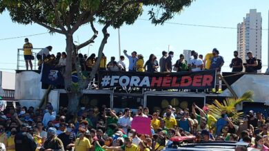
[[[65,89],[68,95],[68,110],[70,113],[76,113],[79,106],[79,91],[72,86],[72,56],[74,54],[73,37],[71,34],[66,35],[66,71],[64,73]]]

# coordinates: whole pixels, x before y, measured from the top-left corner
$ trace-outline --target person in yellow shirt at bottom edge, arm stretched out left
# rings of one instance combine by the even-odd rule
[[[132,138],[131,137],[126,137],[124,138],[124,145],[123,146],[113,146],[113,147],[108,147],[104,146],[105,149],[112,149],[114,151],[139,151],[138,146],[136,146],[134,143],[132,143]]]

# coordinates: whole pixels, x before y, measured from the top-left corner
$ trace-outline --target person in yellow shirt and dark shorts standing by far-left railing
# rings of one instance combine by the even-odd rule
[[[23,45],[23,56],[24,60],[26,61],[26,70],[30,65],[32,70],[32,43],[29,43],[28,38],[24,39],[25,44]]]

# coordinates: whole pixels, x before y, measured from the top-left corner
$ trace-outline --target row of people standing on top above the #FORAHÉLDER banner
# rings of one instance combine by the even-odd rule
[[[23,45],[23,54],[26,60],[26,69],[30,65],[32,69],[32,43],[29,43],[28,38],[25,39],[25,44]],[[48,65],[53,65],[57,67],[66,66],[66,52],[58,52],[56,56],[50,54],[52,46],[41,49],[37,53],[37,59],[39,60],[39,66],[44,62]],[[197,51],[192,50],[190,58],[185,58],[183,54],[179,55],[179,59],[175,64],[172,63],[172,58],[174,57],[173,51],[162,51],[162,57],[157,60],[155,54],[150,54],[148,60],[144,60],[143,54],[137,54],[137,51],[132,51],[129,55],[127,50],[123,53],[128,58],[129,66],[123,62],[125,60],[124,56],[120,56],[119,61],[112,56],[110,61],[106,58],[105,54],[101,56],[101,62],[99,64],[99,70],[101,71],[148,71],[148,72],[172,72],[172,71],[201,71],[203,69],[216,69],[217,72],[221,71],[221,67],[224,64],[223,56],[219,56],[219,50],[214,48],[212,52],[206,54],[203,58],[202,54],[198,54]],[[234,51],[235,58],[232,59],[230,67],[232,72],[241,72],[243,67],[246,68],[248,73],[257,73],[258,61],[255,56],[252,55],[252,51],[248,51],[248,60],[243,62],[241,58],[238,57],[238,51]],[[92,71],[92,67],[97,62],[95,54],[91,54],[89,57],[85,54],[78,54],[79,64],[81,66],[81,71]]]

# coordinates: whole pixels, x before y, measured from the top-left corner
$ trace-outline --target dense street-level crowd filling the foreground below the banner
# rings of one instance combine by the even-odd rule
[[[175,107],[168,105],[161,115],[141,106],[136,111],[125,108],[118,112],[105,105],[86,106],[73,115],[68,108],[54,111],[50,103],[43,110],[7,106],[0,116],[0,144],[8,151],[159,151],[172,146],[172,137],[195,136],[195,143],[239,141],[249,143],[250,148],[269,150],[269,119],[262,113],[249,111],[243,119],[232,119],[221,111],[215,119],[208,114],[208,106]],[[132,128],[135,117],[150,118],[150,135]]]

